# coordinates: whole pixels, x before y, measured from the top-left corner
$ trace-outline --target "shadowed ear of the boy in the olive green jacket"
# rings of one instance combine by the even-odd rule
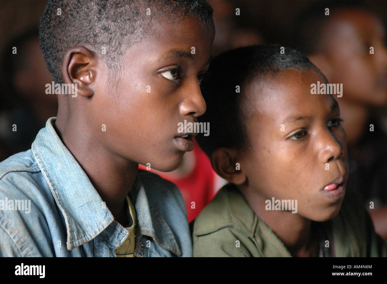
[[[211,165],[216,173],[225,180],[241,185],[246,181],[246,173],[238,162],[238,151],[229,148],[218,148],[211,155]]]

